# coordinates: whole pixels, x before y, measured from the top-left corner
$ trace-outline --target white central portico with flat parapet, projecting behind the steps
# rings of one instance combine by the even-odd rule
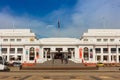
[[[55,59],[60,59],[62,54],[67,54],[68,59],[77,62],[81,61],[79,58],[79,46],[78,39],[75,38],[44,38],[40,39],[42,44],[42,59],[52,60],[53,56]]]

